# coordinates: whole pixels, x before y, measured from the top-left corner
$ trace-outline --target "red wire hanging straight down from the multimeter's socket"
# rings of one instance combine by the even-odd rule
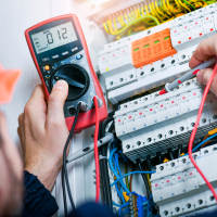
[[[99,164],[99,153],[98,153],[98,135],[99,135],[99,124],[100,124],[100,112],[98,105],[97,97],[93,97],[93,102],[95,106],[95,130],[94,130],[94,159],[95,159],[95,175],[97,175],[97,193],[95,193],[95,203],[99,203],[100,199],[100,164]]]

